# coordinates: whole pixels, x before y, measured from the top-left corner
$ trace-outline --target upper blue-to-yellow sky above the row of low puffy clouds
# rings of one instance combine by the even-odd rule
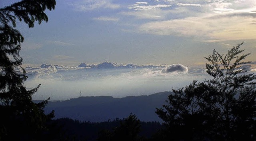
[[[191,66],[242,41],[256,61],[256,0],[56,0],[47,15],[32,29],[18,23],[24,64]]]

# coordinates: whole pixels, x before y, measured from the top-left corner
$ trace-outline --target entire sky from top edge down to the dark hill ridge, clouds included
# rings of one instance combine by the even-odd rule
[[[42,84],[34,99],[171,91],[210,78],[204,57],[242,41],[256,71],[256,0],[56,0],[46,13],[48,23],[17,24],[25,85]]]

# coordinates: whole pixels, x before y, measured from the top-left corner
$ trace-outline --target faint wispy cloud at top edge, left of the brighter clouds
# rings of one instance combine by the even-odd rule
[[[90,11],[100,8],[106,9],[118,9],[121,6],[112,3],[110,0],[80,0],[72,1],[68,3],[70,6],[74,6],[76,11]]]

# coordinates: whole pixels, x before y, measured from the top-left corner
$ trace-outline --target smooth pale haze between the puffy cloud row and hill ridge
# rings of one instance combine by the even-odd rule
[[[44,70],[44,69],[43,69]],[[151,69],[120,69],[120,70],[80,70],[61,71],[49,76],[28,79],[25,86],[34,87],[42,84],[40,91],[33,99],[66,100],[80,96],[115,96],[145,95],[155,92],[169,91],[173,88],[186,86],[195,76],[184,73],[166,73],[154,75]],[[196,75],[197,80],[204,80],[203,75]],[[100,87],[99,87],[100,86]],[[58,90],[56,90],[58,88]]]

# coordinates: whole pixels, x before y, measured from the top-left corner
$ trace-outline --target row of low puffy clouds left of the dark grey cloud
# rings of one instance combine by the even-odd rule
[[[47,65],[46,63],[40,65],[40,67],[26,67],[26,72],[29,78],[61,78],[64,80],[77,80],[77,79],[83,79],[83,78],[91,78],[91,77],[99,77],[102,76],[101,74],[94,74],[90,73],[90,75],[80,73],[80,71],[95,71],[95,70],[102,70],[106,71],[110,69],[120,69],[125,70],[127,69],[147,69],[147,68],[164,68],[166,65],[159,65],[159,64],[145,64],[145,65],[135,65],[132,63],[114,63],[114,62],[103,62],[98,65],[94,64],[87,64],[87,63],[80,63],[80,65],[74,65],[74,66],[62,66],[62,65]],[[63,72],[67,72],[65,75],[62,74]],[[72,72],[71,74],[68,72]],[[75,72],[75,73],[73,73]]]

